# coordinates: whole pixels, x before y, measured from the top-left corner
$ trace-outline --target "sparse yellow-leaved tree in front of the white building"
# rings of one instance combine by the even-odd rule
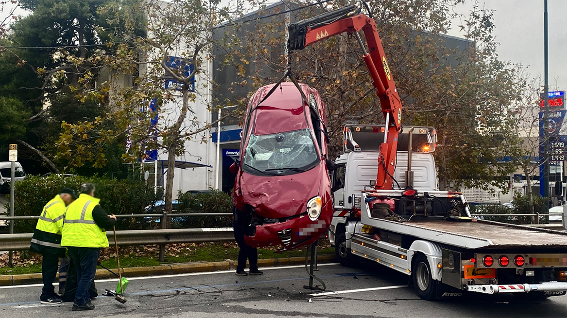
[[[111,76],[85,96],[104,100],[112,111],[95,121],[64,123],[57,157],[69,159],[75,166],[86,161],[104,166],[107,161],[98,150],[126,137],[126,161],[143,160],[148,150],[165,151],[165,201],[167,212],[171,212],[176,154],[189,140],[206,142],[214,123],[197,118],[193,108],[194,102],[204,98],[199,92],[208,91],[210,86],[208,65],[216,44],[213,28],[242,14],[238,6],[230,5],[234,3],[222,6],[218,0],[150,0],[129,3],[127,9],[126,4],[104,7],[101,12],[109,20],[128,22],[134,19],[132,12],[143,12],[146,29],[133,41],[118,44],[116,54],[86,58],[93,65],[104,66]],[[226,37],[224,43],[232,41]],[[132,85],[118,84],[128,76],[132,76]],[[196,85],[201,89],[193,89]],[[206,107],[215,108],[210,101]],[[116,130],[105,128],[108,125]]]

